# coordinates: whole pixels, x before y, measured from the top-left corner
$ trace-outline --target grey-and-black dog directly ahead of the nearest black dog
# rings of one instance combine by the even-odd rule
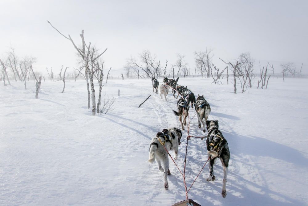
[[[198,95],[196,100],[196,107],[198,117],[198,127],[201,128],[201,122],[203,124],[203,132],[205,132],[205,122],[208,120],[209,114],[211,112],[211,107],[209,103],[204,99],[203,95]]]

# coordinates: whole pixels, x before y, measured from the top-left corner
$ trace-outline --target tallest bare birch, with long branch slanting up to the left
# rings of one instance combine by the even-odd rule
[[[59,32],[49,21],[47,21],[51,27],[53,27],[57,32]],[[64,36],[61,32],[59,32],[62,36]],[[83,59],[83,63],[85,66],[85,73],[86,76],[88,74],[89,79],[90,79],[90,84],[91,84],[91,97],[92,97],[92,116],[95,116],[96,113],[96,104],[95,104],[95,89],[94,89],[94,82],[93,82],[93,76],[95,72],[95,65],[96,65],[96,60],[103,55],[103,53],[106,52],[107,48],[100,54],[95,53],[95,48],[91,48],[91,42],[87,46],[84,40],[83,36],[83,30],[81,31],[80,37],[82,40],[82,48],[78,48],[75,44],[75,42],[72,40],[71,36],[68,35],[64,36],[67,40],[70,40],[71,43],[73,44],[74,48],[76,49],[78,55]],[[87,48],[87,53],[86,53],[86,48]],[[97,51],[97,50],[96,50]],[[89,61],[89,57],[90,60]],[[88,84],[88,82],[87,82]]]

